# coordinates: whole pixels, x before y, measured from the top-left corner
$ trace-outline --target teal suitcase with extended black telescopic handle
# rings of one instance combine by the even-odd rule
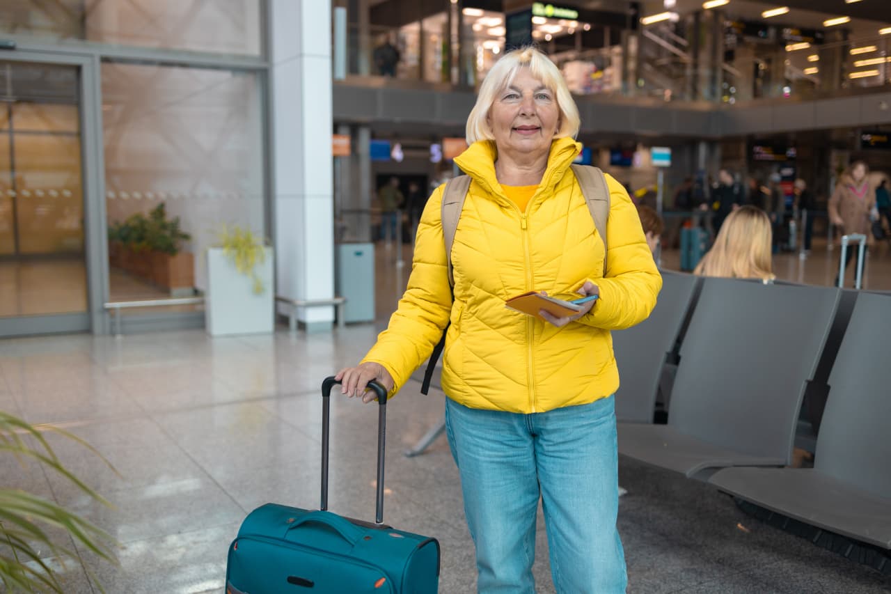
[[[267,503],[245,518],[229,545],[226,594],[434,594],[439,543],[383,524],[387,391],[378,395],[378,482],[374,524],[328,508],[328,441],[333,377],[322,386],[322,506]]]

